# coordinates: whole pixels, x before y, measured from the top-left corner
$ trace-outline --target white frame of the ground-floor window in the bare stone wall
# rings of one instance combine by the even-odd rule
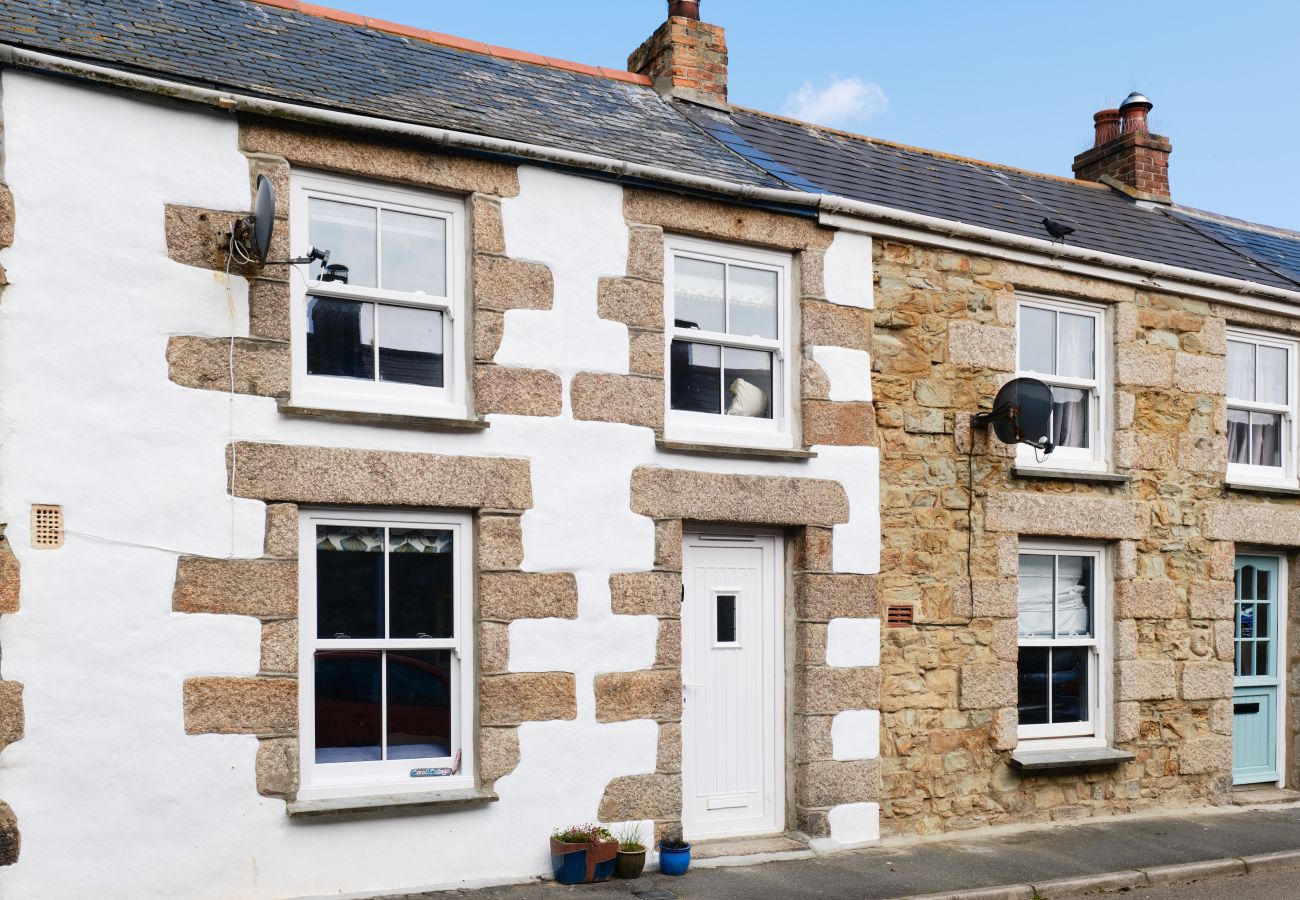
[[[1112,581],[1109,549],[1097,544],[1074,541],[1026,541],[1019,544],[1017,572],[1020,555],[1089,557],[1093,564],[1092,637],[1023,637],[1019,633],[1019,575],[1017,575],[1017,657],[1024,646],[1088,646],[1091,671],[1088,674],[1089,721],[1062,724],[1019,724],[1017,739],[1020,749],[1091,749],[1108,747],[1110,730],[1110,648]],[[1056,568],[1053,568],[1056,572]],[[1017,675],[1017,706],[1019,706],[1019,675]]]

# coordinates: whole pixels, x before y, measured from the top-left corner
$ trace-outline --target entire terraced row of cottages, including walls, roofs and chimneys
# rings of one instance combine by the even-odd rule
[[[615,72],[0,0],[4,896],[1297,775],[1300,235],[1175,204],[1140,95],[1026,173],[733,107],[668,7]],[[1050,454],[972,423],[1018,376]]]

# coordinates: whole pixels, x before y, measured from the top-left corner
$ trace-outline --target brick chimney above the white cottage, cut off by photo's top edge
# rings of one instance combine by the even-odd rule
[[[699,21],[698,0],[668,0],[668,21],[628,57],[667,96],[727,109],[727,34]]]

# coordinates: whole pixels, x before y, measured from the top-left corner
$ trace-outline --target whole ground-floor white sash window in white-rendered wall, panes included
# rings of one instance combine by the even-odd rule
[[[473,787],[462,514],[299,518],[299,800]]]

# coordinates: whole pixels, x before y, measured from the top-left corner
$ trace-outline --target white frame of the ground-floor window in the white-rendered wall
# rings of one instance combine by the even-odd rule
[[[474,619],[473,619],[473,524],[464,512],[303,509],[298,516],[298,744],[300,786],[298,800],[425,793],[476,787],[474,771]],[[455,606],[454,636],[432,639],[350,639],[316,636],[316,525],[369,525],[451,531]],[[452,745],[460,752],[455,775],[411,778],[410,770],[450,766],[446,758],[381,760],[367,762],[316,762],[316,668],[313,654],[321,649],[441,650],[450,649],[455,688],[450,692]]]

